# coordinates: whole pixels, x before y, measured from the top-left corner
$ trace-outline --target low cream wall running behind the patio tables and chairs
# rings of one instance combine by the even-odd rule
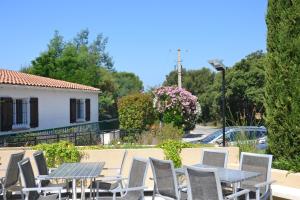
[[[237,147],[226,148],[229,151],[228,155],[228,167],[238,168],[239,166],[239,149]],[[33,150],[28,148],[0,148],[0,163],[2,164],[0,168],[6,168],[10,154],[25,150],[25,157],[29,157],[33,164],[34,173],[37,174],[37,169],[34,164],[32,157]],[[193,165],[199,163],[201,160],[201,150],[202,148],[187,148],[183,149],[181,153],[182,163],[184,165]],[[104,150],[83,150],[84,157],[81,162],[105,162],[105,167],[116,168],[120,166],[122,155],[124,149],[104,149]],[[133,157],[149,158],[154,157],[158,159],[164,158],[164,153],[162,149],[159,148],[145,148],[145,149],[128,149],[128,156],[125,161],[124,171],[122,174],[127,175],[131,166],[131,161]],[[103,175],[113,175],[114,171],[104,170]],[[0,176],[3,176],[4,171],[0,170]],[[153,188],[153,182],[149,180],[152,177],[151,168],[149,166],[149,171],[147,174],[146,185],[149,189]],[[275,186],[291,187],[300,190],[300,173],[288,173],[284,170],[272,169],[272,180],[276,180]],[[274,187],[274,190],[281,190],[280,187]],[[278,189],[279,188],[279,189]],[[287,197],[285,192],[274,191],[274,194],[279,197]],[[297,194],[296,194],[297,195]],[[290,199],[298,199],[297,196],[293,196]],[[300,199],[300,197],[299,197]]]

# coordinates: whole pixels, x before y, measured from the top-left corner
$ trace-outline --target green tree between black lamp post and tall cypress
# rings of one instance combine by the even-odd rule
[[[229,125],[262,123],[256,116],[264,114],[264,65],[265,54],[256,51],[226,70],[226,118]]]

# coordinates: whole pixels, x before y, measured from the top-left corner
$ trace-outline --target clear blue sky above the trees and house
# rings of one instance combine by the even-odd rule
[[[0,68],[19,70],[47,47],[54,30],[66,40],[88,28],[109,38],[118,71],[157,86],[182,49],[187,69],[227,66],[266,49],[267,0],[1,0]]]

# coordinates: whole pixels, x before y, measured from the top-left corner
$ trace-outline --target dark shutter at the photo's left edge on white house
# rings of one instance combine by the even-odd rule
[[[0,125],[1,131],[10,131],[13,125],[13,100],[12,98],[0,98]]]

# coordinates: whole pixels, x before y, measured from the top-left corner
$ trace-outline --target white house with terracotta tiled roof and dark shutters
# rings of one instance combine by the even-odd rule
[[[0,69],[0,135],[98,121],[99,89]]]

